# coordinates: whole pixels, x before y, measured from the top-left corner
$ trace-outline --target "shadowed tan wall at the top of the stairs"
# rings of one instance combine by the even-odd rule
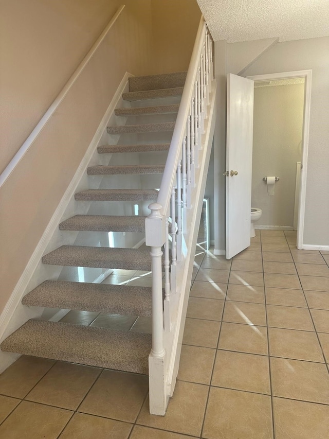
[[[200,17],[196,0],[152,0],[154,73],[187,70]]]

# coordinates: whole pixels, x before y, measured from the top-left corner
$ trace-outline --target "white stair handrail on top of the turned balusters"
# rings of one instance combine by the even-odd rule
[[[167,156],[165,170],[163,171],[162,181],[160,185],[157,203],[162,206],[160,212],[166,215],[170,206],[172,187],[176,178],[177,163],[181,151],[181,144],[183,141],[186,120],[190,111],[191,98],[194,91],[194,79],[197,73],[200,52],[202,50],[203,38],[206,29],[206,22],[201,16],[199,27],[196,33],[195,43],[192,51],[192,56],[187,71],[184,90],[181,96],[179,110],[177,113],[176,124],[173,131],[173,136],[170,143],[170,148]]]

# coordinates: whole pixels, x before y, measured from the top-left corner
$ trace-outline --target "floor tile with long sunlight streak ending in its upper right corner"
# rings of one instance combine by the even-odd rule
[[[267,355],[267,330],[262,326],[222,323],[218,349]]]

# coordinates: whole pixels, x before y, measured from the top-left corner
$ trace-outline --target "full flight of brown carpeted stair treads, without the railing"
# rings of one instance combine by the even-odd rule
[[[175,117],[179,103],[168,103],[182,94],[186,72],[130,78],[129,92],[124,93],[125,101],[137,102],[138,107],[118,108],[118,117],[171,114]],[[157,105],[149,106],[150,102]],[[146,102],[147,104],[145,104]],[[162,117],[163,118],[163,117]],[[158,143],[161,133],[173,132],[174,121],[117,125],[107,127],[107,133],[120,135],[152,133],[152,143],[102,145],[101,154],[124,154],[129,163],[130,153],[152,154],[167,152],[170,143]],[[163,154],[162,154],[163,156]],[[163,164],[139,164],[87,168],[87,175],[150,175],[163,173]],[[160,183],[160,180],[159,180]],[[150,188],[102,188],[86,189],[78,192],[75,199],[107,203],[108,201],[140,202],[156,201],[158,190]],[[113,214],[116,208],[113,207]],[[145,233],[145,216],[116,215],[76,215],[59,224],[61,231],[123,232]],[[89,245],[62,245],[46,254],[43,264],[71,267],[97,267],[123,270],[151,270],[150,250],[148,248],[106,248]],[[151,288],[129,285],[105,285],[93,283],[46,280],[26,294],[23,305],[46,308],[96,311],[122,315],[151,316]],[[54,360],[106,367],[120,371],[148,374],[148,357],[151,350],[151,334],[111,330],[93,326],[79,326],[61,322],[48,322],[31,319],[16,330],[2,344],[1,349],[24,355],[32,355]]]

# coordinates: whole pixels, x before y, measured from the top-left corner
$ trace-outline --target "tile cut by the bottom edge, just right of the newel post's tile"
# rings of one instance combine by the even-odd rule
[[[212,387],[202,437],[271,439],[270,396]]]

